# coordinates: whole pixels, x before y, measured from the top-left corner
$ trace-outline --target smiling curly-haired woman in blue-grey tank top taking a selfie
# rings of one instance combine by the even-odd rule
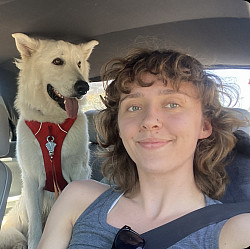
[[[115,187],[71,183],[38,248],[119,248],[113,241],[124,225],[143,236],[223,195],[225,158],[236,143],[232,129],[242,121],[221,106],[220,94],[230,94],[220,81],[190,56],[146,49],[107,64],[109,80],[97,120],[108,148],[103,173]],[[242,214],[172,248],[244,248],[249,235],[250,214]],[[142,248],[137,243],[128,248]]]

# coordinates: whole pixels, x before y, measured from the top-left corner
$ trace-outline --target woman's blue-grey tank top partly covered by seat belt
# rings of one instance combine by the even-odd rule
[[[116,192],[111,188],[100,195],[78,218],[76,221],[72,237],[69,244],[70,249],[110,249],[114,237],[119,231],[107,223],[107,214],[116,200],[121,196],[121,192]],[[206,196],[206,205],[220,203]],[[218,249],[219,234],[225,221],[209,225],[195,233],[185,237],[171,249]],[[125,225],[125,224],[124,224]],[[143,234],[142,234],[143,236]],[[147,242],[146,242],[147,243]],[[152,248],[156,249],[156,248]],[[161,249],[161,248],[159,248]],[[162,248],[165,249],[165,248]]]

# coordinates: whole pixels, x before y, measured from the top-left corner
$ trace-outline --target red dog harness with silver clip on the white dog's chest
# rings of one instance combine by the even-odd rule
[[[46,172],[45,190],[55,192],[56,196],[68,184],[62,175],[61,149],[64,138],[76,118],[68,118],[62,124],[25,121],[40,144]]]

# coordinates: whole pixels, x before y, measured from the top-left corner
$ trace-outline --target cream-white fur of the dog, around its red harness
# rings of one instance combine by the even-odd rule
[[[33,39],[21,33],[13,37],[22,58],[16,61],[20,73],[15,107],[20,114],[16,149],[23,188],[20,201],[5,217],[0,248],[24,249],[28,244],[29,249],[36,249],[55,194],[43,190],[46,174],[42,151],[24,120],[58,124],[67,118],[65,110],[49,97],[47,84],[65,97],[72,96],[76,81],[88,81],[87,59],[98,42],[73,45]],[[55,58],[62,58],[64,65],[54,65]],[[77,66],[79,61],[81,68]],[[64,140],[61,153],[62,173],[67,182],[90,177],[87,119],[81,111]]]

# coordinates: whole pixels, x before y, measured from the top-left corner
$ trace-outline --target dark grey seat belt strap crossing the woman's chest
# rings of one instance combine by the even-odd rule
[[[141,236],[146,241],[145,249],[165,249],[201,228],[243,213],[250,213],[250,201],[214,204],[186,214]]]

